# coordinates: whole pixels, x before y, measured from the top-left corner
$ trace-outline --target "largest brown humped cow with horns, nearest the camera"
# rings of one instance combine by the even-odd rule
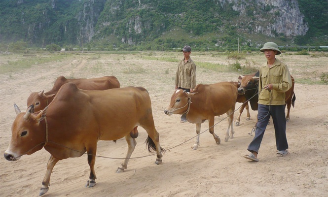
[[[33,108],[34,105],[31,105],[26,113],[21,113],[15,105],[17,116],[12,124],[12,137],[4,157],[15,161],[42,147],[51,154],[40,195],[48,191],[52,169],[59,160],[80,157],[85,152],[90,165],[86,186],[93,187],[96,184],[94,164],[99,140],[125,137],[128,152],[117,172],[124,171],[136,146],[136,136],[132,134],[135,132],[131,131],[136,131],[137,126],[143,127],[148,133],[148,150],[157,153],[155,164],[162,163],[164,149],[159,144],[159,133],[154,127],[151,101],[145,88],[85,91],[73,83],[67,83],[46,108],[35,113]]]

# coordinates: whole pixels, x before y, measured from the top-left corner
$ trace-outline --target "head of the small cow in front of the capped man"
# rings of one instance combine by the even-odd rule
[[[164,113],[166,115],[172,115],[172,114],[183,114],[187,111],[188,105],[190,102],[190,98],[196,94],[193,93],[186,93],[184,90],[177,89],[172,97],[171,102],[167,109],[164,110]]]

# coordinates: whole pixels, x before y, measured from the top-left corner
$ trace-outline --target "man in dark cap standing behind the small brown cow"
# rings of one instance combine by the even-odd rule
[[[191,60],[191,47],[186,45],[181,50],[183,53],[183,59],[179,62],[179,66],[176,74],[176,89],[182,89],[186,92],[192,92],[196,86],[196,65]],[[181,122],[187,122],[185,114],[181,116]]]

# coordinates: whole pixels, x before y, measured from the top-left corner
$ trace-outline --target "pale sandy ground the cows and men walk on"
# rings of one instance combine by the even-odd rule
[[[259,162],[244,159],[247,146],[253,139],[252,130],[256,111],[246,121],[242,114],[241,125],[234,127],[235,137],[224,142],[227,128],[225,116],[216,117],[214,130],[221,138],[217,145],[206,131],[208,121],[202,124],[200,147],[192,150],[196,127],[180,123],[180,115],[167,116],[174,92],[174,75],[177,63],[162,61],[162,57],[182,58],[181,53],[140,54],[83,54],[68,56],[61,61],[34,65],[11,73],[0,73],[0,152],[3,154],[11,137],[11,124],[16,103],[25,112],[30,91],[48,91],[54,80],[64,75],[73,78],[93,78],[114,75],[121,87],[143,86],[152,100],[155,127],[160,133],[161,146],[167,149],[163,163],[154,164],[155,157],[147,152],[144,141],[146,131],[139,128],[137,147],[123,173],[115,173],[120,159],[96,158],[97,184],[85,188],[90,169],[87,156],[60,161],[51,175],[51,186],[44,197],[327,197],[328,195],[328,85],[297,83],[303,78],[315,77],[328,70],[328,58],[283,55],[278,57],[290,66],[295,78],[295,107],[287,123],[290,154],[276,157],[273,124],[268,125],[261,148]],[[157,59],[156,59],[157,57]],[[0,56],[0,64],[20,56]],[[29,58],[29,57],[24,57]],[[192,53],[198,62],[226,64],[235,62],[226,56]],[[259,65],[262,55],[251,55],[241,64]],[[197,83],[211,84],[236,81],[238,73],[218,73],[197,69]],[[316,78],[313,80],[320,80]],[[239,107],[241,103],[237,103]],[[236,108],[237,108],[236,107]],[[235,119],[237,112],[235,113]],[[125,139],[99,141],[97,155],[124,158]],[[0,196],[38,196],[50,154],[42,149],[15,162],[0,158]]]

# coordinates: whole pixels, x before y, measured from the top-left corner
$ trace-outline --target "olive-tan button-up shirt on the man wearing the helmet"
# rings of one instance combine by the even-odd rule
[[[292,87],[292,78],[288,67],[276,59],[270,68],[267,63],[260,66],[258,83],[258,104],[284,105],[285,92]],[[264,90],[270,83],[272,96],[268,90]]]

